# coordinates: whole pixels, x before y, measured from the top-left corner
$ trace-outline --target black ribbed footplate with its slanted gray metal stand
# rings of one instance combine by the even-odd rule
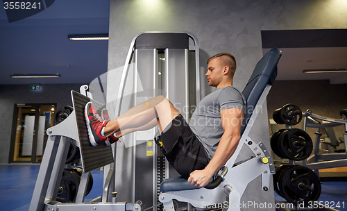
[[[85,104],[92,101],[96,110],[103,108],[103,105],[86,96],[88,93],[87,85],[83,85],[81,91],[83,89],[85,90],[85,95],[71,91],[74,110],[69,117],[60,124],[46,130],[49,138],[37,176],[29,211],[142,210],[140,202],[117,203],[115,202],[115,196],[112,197],[109,194],[112,191],[112,177],[115,175],[113,168],[110,168],[105,178],[102,201],[99,203],[84,203],[90,171],[111,164],[113,162],[113,155],[110,146],[106,146],[105,144],[92,146],[89,142],[83,114]],[[78,186],[76,202],[60,203],[56,201],[56,197],[71,140],[80,149],[83,172],[81,173],[81,182]]]

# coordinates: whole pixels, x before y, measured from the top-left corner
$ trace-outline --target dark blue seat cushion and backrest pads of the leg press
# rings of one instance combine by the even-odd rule
[[[262,92],[266,85],[272,85],[273,81],[277,76],[277,63],[282,56],[282,51],[279,49],[271,49],[268,53],[263,56],[263,58],[257,62],[255,69],[251,78],[248,80],[246,87],[242,94],[244,95],[247,105],[246,111],[244,113],[244,122],[241,128],[241,135],[244,133],[244,130],[248,124],[249,119],[257,105],[257,101],[260,99]],[[171,191],[180,191],[188,189],[197,189],[194,185],[188,183],[185,178],[171,178],[162,181],[160,184],[161,192],[171,192]]]

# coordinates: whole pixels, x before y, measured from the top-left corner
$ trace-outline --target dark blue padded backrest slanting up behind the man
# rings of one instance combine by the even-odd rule
[[[246,98],[246,110],[244,112],[244,121],[241,127],[241,135],[244,133],[249,119],[260,99],[266,85],[273,84],[277,76],[277,63],[282,56],[279,49],[271,49],[263,56],[263,58],[255,65],[253,74],[249,78],[242,94]]]

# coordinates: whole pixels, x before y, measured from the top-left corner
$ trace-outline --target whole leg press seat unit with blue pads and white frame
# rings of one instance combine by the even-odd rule
[[[276,78],[280,56],[281,51],[278,49],[272,49],[266,53],[257,63],[242,92],[247,100],[242,137],[237,150],[223,167],[223,171],[208,185],[208,188],[197,189],[183,178],[164,180],[160,185],[162,194],[160,194],[159,200],[164,204],[166,211],[174,210],[174,199],[188,202],[196,208],[217,205],[219,208],[228,208],[228,210],[240,210],[242,208],[241,196],[248,183],[257,176],[262,176],[262,184],[258,188],[264,192],[269,191],[270,178],[275,173],[270,153],[262,142],[251,140],[248,133]],[[235,162],[243,146],[248,147],[253,155],[246,160]],[[225,207],[226,204],[228,205]]]

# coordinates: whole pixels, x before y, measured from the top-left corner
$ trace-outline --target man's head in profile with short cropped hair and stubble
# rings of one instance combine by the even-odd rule
[[[216,88],[232,85],[236,60],[230,53],[218,53],[208,59],[208,85]]]

